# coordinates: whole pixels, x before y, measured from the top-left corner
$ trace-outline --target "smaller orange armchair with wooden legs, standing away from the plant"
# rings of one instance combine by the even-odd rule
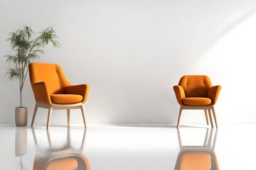
[[[179,128],[181,112],[184,109],[203,110],[206,115],[207,125],[209,124],[209,115],[210,125],[213,128],[213,120],[211,117],[212,111],[215,126],[218,128],[213,106],[217,102],[220,89],[221,86],[212,86],[210,78],[205,75],[186,75],[181,77],[180,81],[178,82],[178,86],[174,86],[176,99],[181,106],[178,113],[178,123],[176,128]]]

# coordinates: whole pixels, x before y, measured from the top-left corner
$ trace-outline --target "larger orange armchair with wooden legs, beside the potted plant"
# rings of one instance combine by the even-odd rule
[[[31,127],[33,127],[38,107],[48,109],[46,129],[49,128],[50,115],[54,109],[67,109],[68,125],[70,124],[70,109],[80,108],[83,123],[85,123],[85,112],[83,104],[87,100],[89,85],[70,84],[63,70],[58,64],[36,63],[28,65],[29,77],[36,106],[33,112]]]

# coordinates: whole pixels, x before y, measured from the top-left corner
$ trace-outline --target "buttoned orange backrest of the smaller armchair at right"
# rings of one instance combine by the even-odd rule
[[[207,97],[212,85],[210,78],[205,75],[186,75],[178,82],[182,86],[186,97]]]

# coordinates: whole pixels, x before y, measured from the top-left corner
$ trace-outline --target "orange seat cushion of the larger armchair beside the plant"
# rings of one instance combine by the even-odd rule
[[[52,94],[50,98],[56,104],[75,104],[82,101],[82,96],[78,94]]]

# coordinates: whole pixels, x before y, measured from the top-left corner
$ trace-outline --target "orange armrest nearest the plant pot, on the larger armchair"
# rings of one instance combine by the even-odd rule
[[[32,89],[37,102],[51,103],[50,92],[45,81],[32,84]]]

